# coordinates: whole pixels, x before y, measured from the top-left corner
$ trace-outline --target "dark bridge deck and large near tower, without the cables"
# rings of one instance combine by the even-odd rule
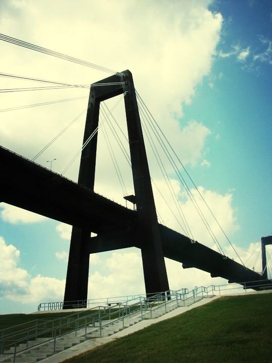
[[[120,82],[123,75],[126,81]],[[147,294],[169,289],[164,257],[181,262],[183,268],[246,283],[247,288],[270,286],[267,274],[262,276],[158,223],[132,75],[124,71],[100,83],[90,90],[84,144],[97,129],[100,102],[125,93],[137,210],[94,192],[97,135],[82,151],[79,183],[0,147],[0,201],[73,226],[64,300],[87,299],[90,254],[127,247],[142,250]],[[91,237],[91,232],[97,236]]]

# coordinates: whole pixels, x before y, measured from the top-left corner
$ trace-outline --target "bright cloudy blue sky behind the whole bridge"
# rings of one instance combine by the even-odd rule
[[[271,225],[272,3],[269,0],[109,1],[0,0],[0,33],[115,71],[134,85],[246,266],[260,272],[260,238]],[[1,72],[90,85],[109,74],[0,40]],[[1,90],[38,87],[0,77]],[[62,173],[81,149],[88,88],[0,95],[0,145],[32,159],[80,113],[36,162]],[[6,108],[84,97],[46,106]],[[119,97],[119,98],[118,98]],[[107,101],[126,133],[122,96]],[[142,120],[144,122],[144,120]],[[125,205],[103,133],[98,132],[95,191]],[[120,134],[119,129],[116,128]],[[121,134],[120,134],[120,137]],[[132,176],[114,138],[127,193]],[[155,138],[154,138],[155,139]],[[182,232],[145,136],[159,220]],[[159,148],[159,145],[157,145]],[[128,151],[128,145],[125,144]],[[162,161],[194,239],[217,249],[165,155]],[[64,176],[77,180],[79,157]],[[184,177],[186,174],[180,167]],[[1,177],[1,175],[0,175]],[[198,202],[224,253],[238,261],[220,227]],[[160,193],[158,192],[160,191]],[[168,205],[161,197],[164,195]],[[0,203],[0,314],[33,312],[61,301],[71,226]],[[272,246],[267,246],[267,256]],[[272,257],[272,256],[271,256]],[[270,258],[271,258],[270,257]],[[171,289],[225,284],[166,259]],[[268,275],[272,273],[268,264]],[[88,298],[144,293],[141,253],[130,248],[91,255]]]

